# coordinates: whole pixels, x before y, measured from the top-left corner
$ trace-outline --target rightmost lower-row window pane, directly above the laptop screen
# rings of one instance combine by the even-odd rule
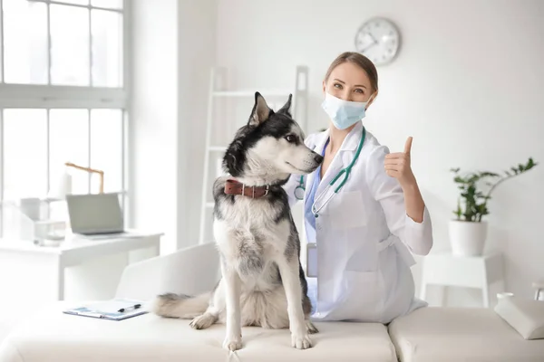
[[[104,171],[104,192],[122,190],[121,110],[91,110],[91,167]],[[100,177],[92,176],[91,189],[98,192]]]

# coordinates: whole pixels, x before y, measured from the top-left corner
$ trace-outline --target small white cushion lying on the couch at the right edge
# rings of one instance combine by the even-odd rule
[[[544,301],[502,298],[495,312],[525,339],[544,338]]]

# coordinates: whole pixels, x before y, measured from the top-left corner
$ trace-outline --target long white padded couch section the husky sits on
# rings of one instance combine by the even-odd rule
[[[317,323],[313,348],[292,348],[288,329],[244,328],[243,348],[222,348],[225,326],[146,314],[112,321],[66,315],[55,303],[24,319],[0,345],[2,362],[107,361],[396,361],[382,324]]]

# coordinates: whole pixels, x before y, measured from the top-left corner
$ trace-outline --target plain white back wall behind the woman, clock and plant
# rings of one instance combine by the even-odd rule
[[[396,62],[380,67],[380,95],[366,126],[392,151],[413,136],[413,170],[432,213],[434,251],[449,250],[456,203],[451,167],[500,171],[535,157],[541,165],[497,190],[489,248],[506,255],[507,287],[531,296],[544,278],[544,2],[464,0],[219,0],[217,61],[242,88],[292,84],[310,67],[309,122],[326,126],[321,81],[355,31],[381,15],[401,29]],[[414,267],[419,281],[419,266]],[[450,293],[481,303],[473,291]]]

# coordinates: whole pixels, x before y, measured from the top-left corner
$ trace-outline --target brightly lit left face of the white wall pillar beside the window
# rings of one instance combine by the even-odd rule
[[[177,239],[178,13],[176,0],[131,2],[131,225]]]

